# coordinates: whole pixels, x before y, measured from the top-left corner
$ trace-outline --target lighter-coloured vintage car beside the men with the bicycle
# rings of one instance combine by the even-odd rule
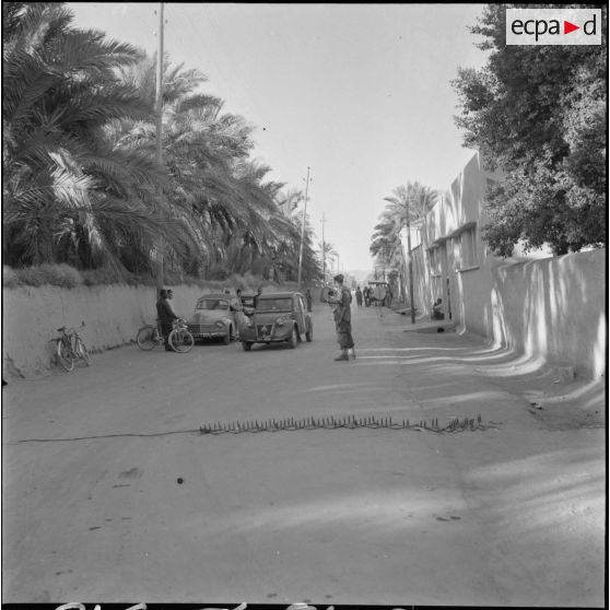
[[[203,294],[197,300],[195,313],[188,320],[195,340],[222,338],[228,345],[237,336],[235,297],[230,294]]]

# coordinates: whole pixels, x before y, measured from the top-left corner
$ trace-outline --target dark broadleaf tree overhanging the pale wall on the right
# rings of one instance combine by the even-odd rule
[[[601,46],[506,46],[505,9],[470,28],[489,50],[453,81],[464,144],[504,177],[486,195],[483,237],[500,256],[548,243],[555,254],[606,243],[607,8]],[[552,4],[544,7],[552,8]],[[558,5],[563,7],[563,5]]]

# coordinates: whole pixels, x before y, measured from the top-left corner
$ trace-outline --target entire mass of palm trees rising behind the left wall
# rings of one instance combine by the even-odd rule
[[[152,274],[278,267],[296,278],[302,198],[249,157],[253,128],[200,93],[206,77],[163,66],[156,163],[156,58],[71,27],[60,3],[3,4],[5,261]],[[306,226],[303,278],[319,274]]]

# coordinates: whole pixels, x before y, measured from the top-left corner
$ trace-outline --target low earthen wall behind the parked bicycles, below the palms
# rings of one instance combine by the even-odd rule
[[[207,290],[174,286],[174,309],[189,316],[197,297]],[[154,288],[104,285],[75,289],[57,286],[3,290],[2,375],[48,375],[54,364],[54,343],[62,326],[79,327],[93,352],[125,345],[138,329],[156,319]]]

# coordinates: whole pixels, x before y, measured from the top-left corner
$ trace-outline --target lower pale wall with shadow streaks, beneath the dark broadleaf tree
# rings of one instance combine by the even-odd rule
[[[606,373],[606,248],[493,270],[493,338],[520,353]]]

